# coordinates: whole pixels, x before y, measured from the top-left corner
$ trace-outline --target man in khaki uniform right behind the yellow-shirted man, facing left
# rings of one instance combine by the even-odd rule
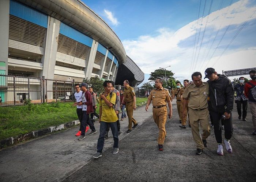
[[[136,126],[138,126],[138,123],[132,117],[133,109],[136,110],[136,96],[135,96],[134,89],[131,86],[129,86],[128,80],[124,80],[124,94],[123,95],[124,95],[124,98],[122,100],[121,107],[123,106],[123,104],[125,102],[126,112],[127,112],[127,116],[128,116],[128,120],[129,120],[127,133],[129,133],[132,131],[132,128],[135,128]],[[133,123],[133,127],[132,127],[132,123]]]

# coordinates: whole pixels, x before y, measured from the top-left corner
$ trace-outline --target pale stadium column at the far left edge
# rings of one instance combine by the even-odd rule
[[[0,75],[8,74],[9,10],[10,1],[0,0]]]

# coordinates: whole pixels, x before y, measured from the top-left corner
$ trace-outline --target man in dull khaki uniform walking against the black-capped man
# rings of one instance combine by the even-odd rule
[[[189,99],[189,120],[193,139],[196,142],[196,154],[200,155],[204,147],[207,147],[207,138],[211,134],[208,122],[209,111],[207,109],[209,85],[207,82],[202,82],[202,74],[200,72],[194,72],[191,77],[194,84],[189,85],[183,94],[183,115],[185,115],[185,107]],[[199,122],[203,130],[202,139],[199,135]]]

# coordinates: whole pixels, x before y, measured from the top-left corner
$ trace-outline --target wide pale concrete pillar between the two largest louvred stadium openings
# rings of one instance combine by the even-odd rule
[[[40,77],[54,78],[59,32],[60,21],[48,16],[45,53],[41,59],[44,68],[40,73]]]

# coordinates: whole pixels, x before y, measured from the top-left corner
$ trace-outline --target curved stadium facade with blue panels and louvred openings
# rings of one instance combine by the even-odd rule
[[[134,87],[144,79],[114,31],[80,0],[1,0],[0,40],[2,75],[99,76]]]

